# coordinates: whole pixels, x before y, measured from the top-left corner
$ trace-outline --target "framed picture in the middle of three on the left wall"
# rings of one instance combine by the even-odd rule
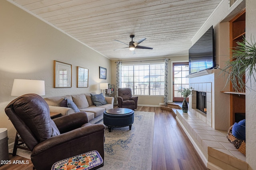
[[[77,66],[77,71],[76,71],[77,87],[88,87],[88,75],[89,75],[89,70],[87,68],[82,68]]]

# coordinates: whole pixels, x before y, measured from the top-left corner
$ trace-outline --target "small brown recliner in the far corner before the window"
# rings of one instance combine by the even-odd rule
[[[132,96],[131,88],[118,88],[118,107],[137,109],[138,96]]]

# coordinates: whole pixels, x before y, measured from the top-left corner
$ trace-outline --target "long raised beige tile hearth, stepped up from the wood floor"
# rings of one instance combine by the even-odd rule
[[[248,169],[246,157],[226,138],[227,131],[213,129],[191,112],[176,110],[176,114],[176,119],[209,169]]]

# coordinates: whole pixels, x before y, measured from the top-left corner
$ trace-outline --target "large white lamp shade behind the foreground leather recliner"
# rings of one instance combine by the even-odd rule
[[[44,96],[44,80],[14,79],[11,96],[22,96],[28,93]]]

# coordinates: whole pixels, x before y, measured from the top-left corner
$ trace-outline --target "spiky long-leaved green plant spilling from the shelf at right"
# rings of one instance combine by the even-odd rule
[[[254,80],[254,72],[256,71],[256,43],[248,43],[244,38],[243,42],[237,42],[237,46],[231,49],[232,56],[230,60],[226,62],[226,66],[222,69],[224,76],[226,76],[226,85],[231,82],[234,91],[244,92],[245,88],[250,88],[246,86],[247,81]]]

